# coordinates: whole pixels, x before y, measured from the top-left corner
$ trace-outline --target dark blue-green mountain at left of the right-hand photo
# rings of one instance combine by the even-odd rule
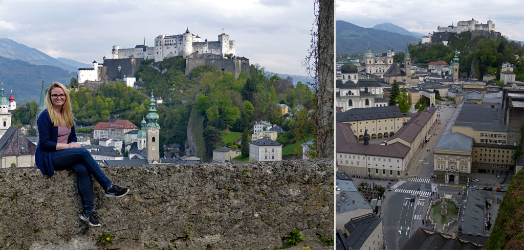
[[[412,35],[364,28],[342,20],[336,21],[335,39],[337,56],[363,55],[368,44],[373,53],[385,53],[388,45],[396,52],[400,52],[406,49],[406,42],[411,44],[419,42],[419,39]]]

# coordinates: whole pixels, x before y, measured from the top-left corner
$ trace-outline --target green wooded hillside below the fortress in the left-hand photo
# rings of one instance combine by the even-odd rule
[[[311,136],[313,129],[308,117],[312,115],[309,111],[314,109],[314,96],[304,84],[293,86],[291,78],[268,78],[263,75],[264,70],[255,65],[250,67],[249,75],[242,73],[238,78],[209,66],[195,68],[189,76],[185,76],[184,67],[185,61],[181,57],[169,58],[160,63],[146,61],[137,73],[137,77],[144,81],[143,89],[134,90],[123,83],[115,83],[103,85],[95,91],[84,88],[71,91],[73,115],[77,118],[77,124],[95,125],[116,117],[139,125],[148,112],[152,91],[155,97],[162,97],[165,103],[157,107],[161,127],[160,145],[184,145],[193,105],[195,112],[204,117],[203,136],[206,145],[209,145],[206,149],[208,156],[214,148],[225,145],[222,130],[244,132],[260,120],[289,131],[279,136],[278,141],[282,144],[291,144],[297,138]],[[194,102],[180,102],[195,96]],[[299,119],[302,117],[300,123],[285,121],[279,103],[287,104],[289,112]],[[298,112],[298,104],[302,104],[305,109]],[[34,122],[35,105],[31,102],[18,106],[13,114],[13,124],[21,126],[29,124],[31,120]],[[229,146],[234,144],[228,142]]]

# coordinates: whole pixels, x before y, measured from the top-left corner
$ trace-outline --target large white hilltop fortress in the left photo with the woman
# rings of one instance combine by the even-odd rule
[[[113,58],[103,58],[104,63],[93,61],[91,68],[78,69],[78,82],[99,86],[103,81],[125,81],[133,87],[136,72],[143,60],[154,59],[161,62],[165,58],[182,56],[185,58],[185,74],[198,66],[209,65],[222,72],[233,73],[238,77],[240,73],[249,74],[249,59],[235,55],[235,41],[230,40],[228,34],[218,35],[218,41],[208,41],[198,34],[186,29],[183,34],[159,35],[155,38],[155,46],[144,44],[136,45],[133,49],[119,49],[113,45]]]

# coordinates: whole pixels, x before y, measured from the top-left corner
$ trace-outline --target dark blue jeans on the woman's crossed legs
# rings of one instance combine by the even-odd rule
[[[78,192],[82,199],[82,211],[93,211],[93,180],[95,180],[107,190],[113,183],[105,176],[98,163],[91,157],[85,148],[71,148],[54,151],[53,153],[54,170],[72,169],[78,174]]]

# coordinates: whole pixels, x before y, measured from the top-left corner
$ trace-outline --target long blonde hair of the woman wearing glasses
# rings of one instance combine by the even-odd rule
[[[60,117],[56,111],[53,109],[53,103],[51,102],[51,90],[54,88],[62,88],[62,90],[65,93],[65,101],[64,104],[62,104],[62,117]],[[49,117],[51,118],[51,122],[53,123],[53,126],[65,126],[65,127],[72,127],[74,126],[74,117],[73,112],[71,109],[71,101],[69,99],[69,91],[65,88],[63,84],[60,82],[53,82],[51,86],[49,86],[49,89],[47,89],[46,93],[46,109],[47,112],[49,112]]]

